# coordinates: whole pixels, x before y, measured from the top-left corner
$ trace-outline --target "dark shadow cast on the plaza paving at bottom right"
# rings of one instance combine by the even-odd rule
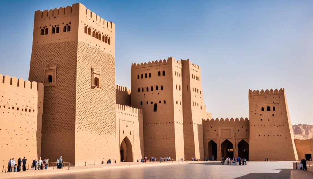
[[[284,178],[290,179],[291,169],[276,169],[280,170],[279,173],[249,173],[244,176],[237,177],[236,179],[264,179],[264,178]]]

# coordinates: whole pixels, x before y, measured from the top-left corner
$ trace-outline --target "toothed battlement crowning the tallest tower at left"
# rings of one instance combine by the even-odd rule
[[[78,16],[79,14],[84,13],[87,18],[90,18],[96,24],[104,26],[105,28],[114,29],[114,23],[110,21],[106,21],[103,18],[100,18],[97,14],[87,9],[82,3],[75,3],[72,6],[54,8],[54,9],[46,9],[44,11],[38,10],[35,11],[35,21],[69,17],[69,16]]]

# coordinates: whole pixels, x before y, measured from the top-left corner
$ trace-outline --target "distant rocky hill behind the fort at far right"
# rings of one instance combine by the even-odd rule
[[[313,125],[296,124],[292,126],[295,139],[313,139]]]

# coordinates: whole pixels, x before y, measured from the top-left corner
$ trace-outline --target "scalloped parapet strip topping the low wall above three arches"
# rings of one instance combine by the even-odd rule
[[[203,119],[203,126],[218,126],[218,125],[249,125],[248,118],[216,118],[216,119]]]

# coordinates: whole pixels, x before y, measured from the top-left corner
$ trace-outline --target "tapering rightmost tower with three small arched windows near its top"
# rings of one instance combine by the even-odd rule
[[[249,114],[250,160],[298,160],[284,89],[249,90]]]

